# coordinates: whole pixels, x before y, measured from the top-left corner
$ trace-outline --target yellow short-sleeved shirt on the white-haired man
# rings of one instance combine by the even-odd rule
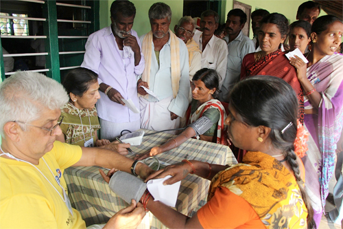
[[[64,169],[78,162],[81,155],[80,146],[56,141],[36,168],[0,157],[1,228],[86,228],[78,210],[73,209],[73,215],[69,212],[56,182],[58,177],[67,190]]]

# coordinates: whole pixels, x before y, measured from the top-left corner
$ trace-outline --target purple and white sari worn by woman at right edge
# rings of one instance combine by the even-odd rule
[[[316,223],[321,219],[325,199],[329,194],[329,181],[335,169],[336,143],[342,131],[342,72],[343,56],[340,54],[324,56],[307,68],[307,78],[322,95],[318,115],[305,115],[305,127],[311,133],[311,138],[308,142],[309,151],[302,158],[307,174],[307,192],[314,206]],[[305,96],[305,109],[312,108]]]

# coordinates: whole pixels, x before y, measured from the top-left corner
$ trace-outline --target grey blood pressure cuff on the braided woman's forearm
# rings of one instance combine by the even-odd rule
[[[117,171],[113,174],[108,186],[128,204],[131,204],[131,199],[135,199],[138,203],[147,189],[147,184],[142,179],[122,171]]]

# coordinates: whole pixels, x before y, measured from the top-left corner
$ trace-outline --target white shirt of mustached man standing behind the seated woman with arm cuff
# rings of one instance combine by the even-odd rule
[[[202,50],[202,33],[194,34],[193,39],[199,45],[200,50]],[[202,51],[201,67],[215,69],[217,71],[220,75],[219,88],[222,87],[225,78],[227,63],[228,46],[224,40],[217,38],[213,34],[209,43],[207,43],[205,49]]]

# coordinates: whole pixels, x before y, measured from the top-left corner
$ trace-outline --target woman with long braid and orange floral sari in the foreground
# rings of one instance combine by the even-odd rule
[[[273,76],[252,76],[230,92],[228,111],[228,137],[248,151],[242,163],[182,160],[147,177],[171,175],[165,184],[189,173],[210,179],[207,203],[187,217],[152,201],[145,191],[143,206],[168,228],[315,228],[303,164],[296,155],[303,129],[292,87]]]

